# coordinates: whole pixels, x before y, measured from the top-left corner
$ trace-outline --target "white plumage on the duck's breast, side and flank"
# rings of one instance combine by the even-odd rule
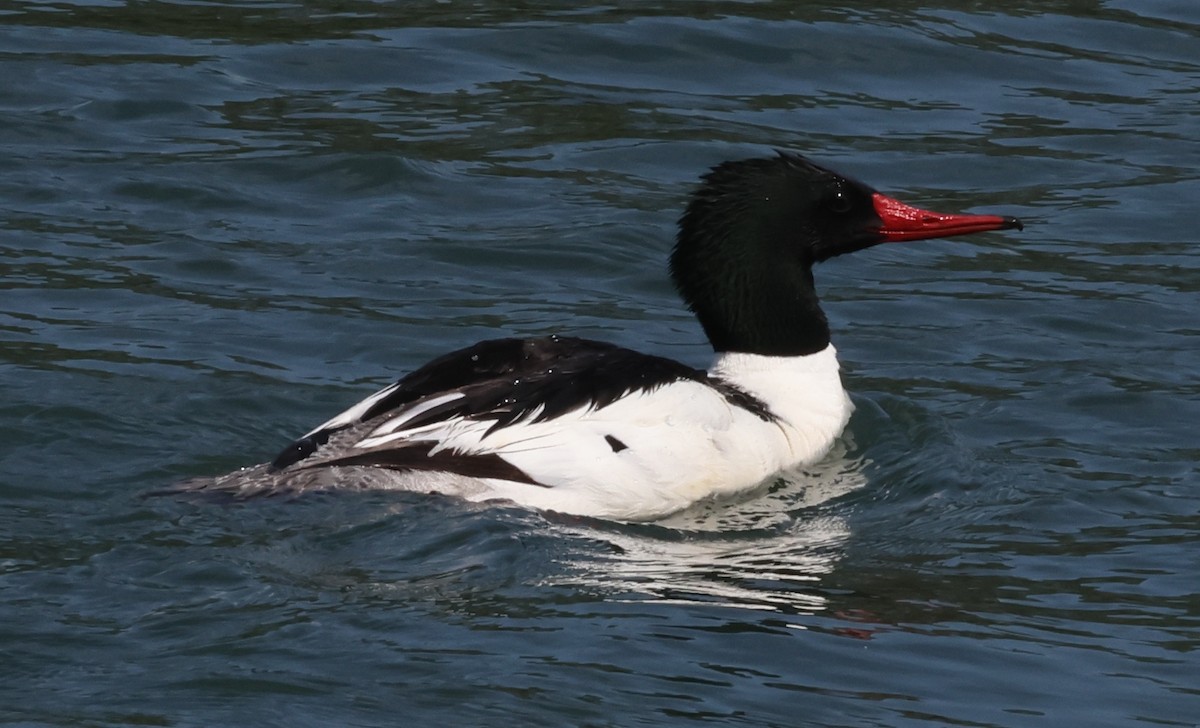
[[[397,429],[402,422],[389,422],[358,447],[432,440],[438,443],[434,452],[499,455],[546,486],[466,477],[424,477],[418,486],[415,474],[401,474],[396,487],[472,500],[500,498],[581,516],[654,519],[823,457],[853,409],[838,369],[832,345],[800,357],[719,355],[710,374],[766,403],[770,420],[706,384],[683,380],[602,408],[581,405],[544,421],[528,416],[499,428],[490,420],[461,417],[408,431]],[[626,447],[614,447],[606,437]]]

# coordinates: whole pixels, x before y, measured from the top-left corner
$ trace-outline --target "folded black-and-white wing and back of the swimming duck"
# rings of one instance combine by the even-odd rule
[[[474,453],[469,462],[451,463],[443,453],[476,450],[469,445],[517,422],[604,409],[676,383],[708,387],[762,420],[770,417],[745,392],[670,359],[570,337],[492,339],[438,357],[367,397],[288,445],[271,469],[373,465],[534,482],[499,456]],[[335,438],[338,433],[343,437]],[[331,438],[336,447],[325,447]]]

